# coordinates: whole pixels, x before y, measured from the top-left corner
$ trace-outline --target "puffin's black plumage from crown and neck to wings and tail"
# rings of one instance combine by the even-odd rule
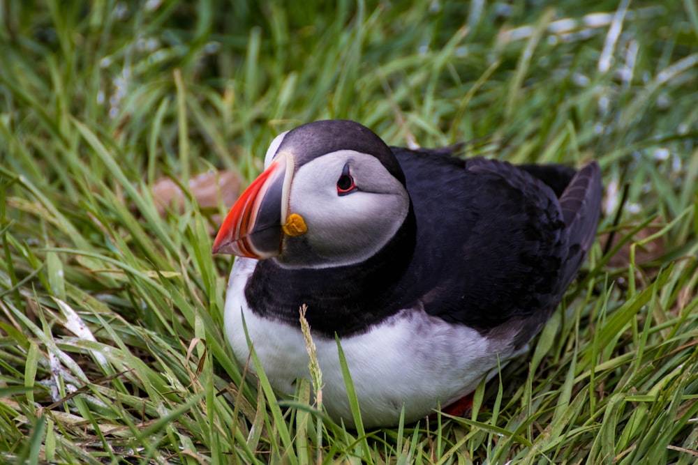
[[[336,125],[313,129],[342,134]],[[390,154],[375,135],[359,137],[364,141],[359,147],[356,135],[338,137],[322,140],[380,153],[383,165],[406,185],[410,212],[394,238],[359,264],[287,269],[274,260],[260,261],[245,288],[252,310],[297,326],[299,306],[308,305],[313,333],[332,338],[364,333],[401,309],[423,307],[483,334],[520,319],[525,324],[515,342],[528,342],[593,243],[601,195],[597,164],[581,171],[515,167],[462,160],[443,148],[392,147]],[[304,148],[295,152],[306,158],[333,149],[318,146],[308,155],[306,148],[318,145],[316,139],[285,140]]]

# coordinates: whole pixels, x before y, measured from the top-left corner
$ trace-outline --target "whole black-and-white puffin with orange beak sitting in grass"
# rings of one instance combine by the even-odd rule
[[[599,166],[457,152],[387,146],[346,120],[276,137],[213,245],[237,256],[224,310],[237,363],[253,349],[293,395],[310,378],[304,307],[327,415],[355,426],[339,342],[362,424],[392,427],[458,411],[526,353],[595,241]]]

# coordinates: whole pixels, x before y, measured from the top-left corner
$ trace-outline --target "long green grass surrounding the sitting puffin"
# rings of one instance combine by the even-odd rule
[[[253,3],[0,3],[0,462],[695,463],[695,2]],[[158,214],[161,176],[249,181],[327,117],[602,166],[588,265],[468,418],[277,402],[223,337],[223,206]]]

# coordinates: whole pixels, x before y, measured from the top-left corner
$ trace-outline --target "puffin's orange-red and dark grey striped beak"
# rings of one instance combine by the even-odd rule
[[[276,160],[242,193],[223,220],[214,254],[268,259],[281,253],[293,157]]]

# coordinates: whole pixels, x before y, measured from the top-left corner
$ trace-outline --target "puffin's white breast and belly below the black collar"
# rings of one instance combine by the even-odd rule
[[[244,286],[254,259],[237,258],[225,300],[225,331],[239,364],[248,359],[248,334],[274,389],[288,395],[297,378],[308,378],[309,357],[299,328],[259,317],[249,309]],[[308,312],[313,309],[309,308]],[[312,330],[312,328],[311,328]],[[322,371],[323,404],[332,418],[352,425],[352,415],[334,339],[313,335]],[[362,335],[341,341],[366,427],[396,425],[433,413],[472,392],[498,365],[526,351],[502,351],[467,326],[447,323],[422,310],[402,310]],[[499,359],[499,360],[498,360]]]

